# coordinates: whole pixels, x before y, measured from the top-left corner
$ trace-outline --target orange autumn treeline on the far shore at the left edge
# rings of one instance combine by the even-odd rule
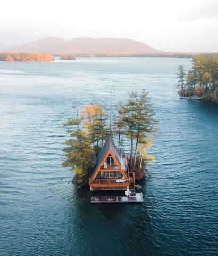
[[[0,53],[0,61],[53,61],[54,57],[49,53],[35,52],[2,52]]]

